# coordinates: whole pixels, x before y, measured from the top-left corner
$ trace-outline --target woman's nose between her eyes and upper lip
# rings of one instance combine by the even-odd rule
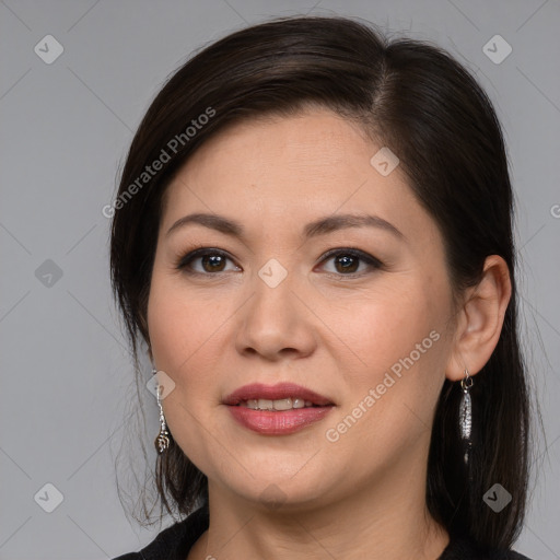
[[[304,358],[314,351],[317,318],[304,303],[301,283],[292,280],[293,275],[288,273],[275,285],[265,275],[255,275],[253,293],[237,316],[240,353],[280,361]]]

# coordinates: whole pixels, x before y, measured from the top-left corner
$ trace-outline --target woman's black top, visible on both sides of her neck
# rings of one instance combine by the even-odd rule
[[[208,505],[192,512],[187,518],[163,529],[140,552],[129,552],[113,560],[186,560],[198,537],[208,529]],[[465,538],[450,540],[438,560],[530,560],[513,550],[481,552]]]

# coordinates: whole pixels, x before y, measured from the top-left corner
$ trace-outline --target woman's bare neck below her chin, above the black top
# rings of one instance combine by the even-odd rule
[[[450,537],[425,509],[425,472],[394,467],[354,495],[305,508],[266,508],[210,483],[210,526],[188,560],[436,560]]]

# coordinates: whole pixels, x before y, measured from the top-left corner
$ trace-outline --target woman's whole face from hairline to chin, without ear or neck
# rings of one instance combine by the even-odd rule
[[[151,350],[168,429],[217,491],[298,508],[423,491],[452,293],[435,222],[395,160],[371,163],[381,148],[328,110],[252,120],[168,187]],[[173,228],[189,214],[210,218]]]

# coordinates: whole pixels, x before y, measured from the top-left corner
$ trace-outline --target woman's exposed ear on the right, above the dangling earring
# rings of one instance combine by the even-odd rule
[[[486,258],[480,282],[466,291],[457,317],[455,341],[445,370],[450,381],[477,374],[494,351],[502,331],[512,284],[505,260],[491,255]]]

